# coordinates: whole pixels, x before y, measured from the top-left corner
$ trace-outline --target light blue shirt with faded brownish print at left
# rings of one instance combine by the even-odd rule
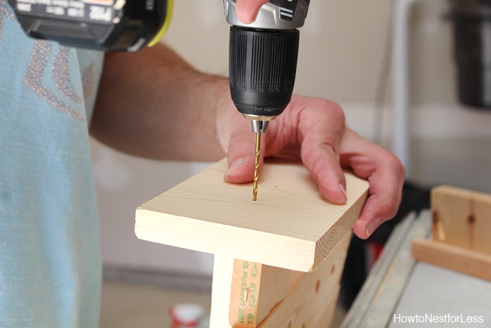
[[[30,39],[0,0],[0,327],[97,327],[88,122],[102,53]]]

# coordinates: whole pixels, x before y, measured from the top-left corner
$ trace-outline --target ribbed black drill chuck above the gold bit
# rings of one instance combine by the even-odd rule
[[[297,72],[297,29],[230,27],[231,98],[246,117],[269,120],[285,110]]]

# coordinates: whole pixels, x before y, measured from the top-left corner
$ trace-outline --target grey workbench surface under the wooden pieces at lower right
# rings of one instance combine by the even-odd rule
[[[396,227],[342,328],[491,327],[490,281],[412,258],[412,240],[429,237],[430,211]]]

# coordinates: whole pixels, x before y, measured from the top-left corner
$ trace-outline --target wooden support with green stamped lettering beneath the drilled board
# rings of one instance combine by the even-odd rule
[[[318,270],[311,273],[267,265],[253,268],[257,263],[215,256],[210,327],[329,327],[350,237],[351,234],[345,235]],[[251,277],[250,273],[258,274]],[[275,278],[278,281],[272,282]],[[248,302],[240,300],[251,283],[257,285],[255,291],[248,291],[247,298],[254,295],[255,301],[248,306]]]

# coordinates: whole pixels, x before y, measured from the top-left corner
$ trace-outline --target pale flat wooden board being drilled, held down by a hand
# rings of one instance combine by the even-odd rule
[[[226,170],[222,160],[138,207],[137,237],[309,272],[351,230],[368,192],[346,172],[348,202],[331,204],[300,162],[276,159],[265,162],[253,202],[252,183],[225,183]]]

